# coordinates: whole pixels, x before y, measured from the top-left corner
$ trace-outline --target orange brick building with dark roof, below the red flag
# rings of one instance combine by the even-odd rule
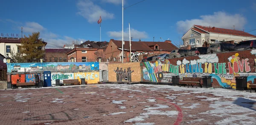
[[[75,62],[98,61],[105,57],[105,49],[108,42],[85,41],[80,45],[74,45],[74,49],[67,52],[68,61],[74,58]]]

